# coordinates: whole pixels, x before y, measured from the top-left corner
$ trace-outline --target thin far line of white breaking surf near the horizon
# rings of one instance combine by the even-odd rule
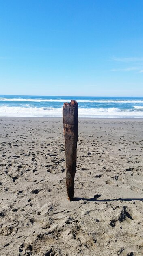
[[[71,99],[18,99],[0,98],[0,101],[27,101],[27,102],[70,102]],[[143,103],[142,100],[78,100],[78,103]]]

